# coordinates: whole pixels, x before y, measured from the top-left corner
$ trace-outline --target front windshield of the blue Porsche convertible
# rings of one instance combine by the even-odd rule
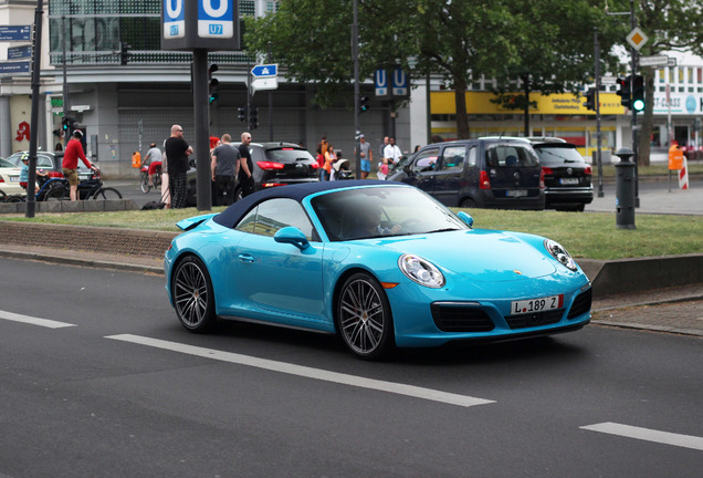
[[[469,228],[447,207],[409,187],[334,191],[315,197],[312,206],[332,241]]]

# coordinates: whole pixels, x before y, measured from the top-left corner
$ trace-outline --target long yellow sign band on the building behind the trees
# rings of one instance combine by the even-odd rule
[[[625,115],[625,107],[620,104],[620,96],[615,93],[600,92],[601,115]],[[491,92],[466,92],[466,113],[469,114],[521,114],[521,110],[507,110],[491,100],[497,98]],[[544,95],[534,93],[529,100],[537,103],[531,107],[531,114],[553,115],[595,115],[596,112],[586,110],[586,96],[575,96],[571,93]],[[455,114],[454,92],[433,92],[431,94],[432,114]]]

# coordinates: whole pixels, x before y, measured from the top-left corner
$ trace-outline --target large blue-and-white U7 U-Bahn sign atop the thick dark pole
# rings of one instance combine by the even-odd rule
[[[161,49],[239,50],[238,0],[161,0]]]

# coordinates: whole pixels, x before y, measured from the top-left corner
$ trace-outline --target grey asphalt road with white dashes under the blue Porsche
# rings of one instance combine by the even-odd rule
[[[703,469],[697,337],[589,325],[366,363],[329,335],[239,323],[190,334],[160,277],[0,268],[0,477]]]

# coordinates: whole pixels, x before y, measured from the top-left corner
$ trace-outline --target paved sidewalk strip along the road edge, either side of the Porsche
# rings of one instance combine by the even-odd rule
[[[40,246],[0,245],[0,257],[76,267],[164,274],[162,257],[112,254]],[[594,298],[594,324],[678,333],[703,337],[703,285],[657,292]]]

